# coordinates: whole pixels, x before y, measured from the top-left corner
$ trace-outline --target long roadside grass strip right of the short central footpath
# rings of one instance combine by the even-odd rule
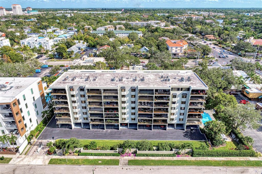
[[[262,167],[262,161],[128,160],[130,166],[230,166]]]

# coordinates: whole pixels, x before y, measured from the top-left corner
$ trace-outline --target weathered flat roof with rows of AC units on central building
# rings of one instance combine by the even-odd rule
[[[161,78],[161,76],[166,78]],[[137,77],[136,81],[135,77]],[[144,81],[142,80],[143,77]],[[188,77],[190,77],[190,80],[188,80]],[[115,81],[112,80],[113,78],[115,78]],[[184,78],[184,81],[182,81],[181,78]],[[163,82],[163,79],[170,79],[170,81]],[[138,85],[140,87],[192,86],[192,88],[208,88],[191,70],[154,70],[141,72],[125,70],[69,70],[64,72],[52,83],[50,88],[65,87],[65,85],[85,85],[89,87],[117,87],[128,85]]]

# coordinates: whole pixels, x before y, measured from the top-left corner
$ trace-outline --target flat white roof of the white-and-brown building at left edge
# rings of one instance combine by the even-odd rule
[[[39,80],[38,77],[0,77],[0,85],[6,85],[0,90],[0,103],[13,101],[29,85]]]

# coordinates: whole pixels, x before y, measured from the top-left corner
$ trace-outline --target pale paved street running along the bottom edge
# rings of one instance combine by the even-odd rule
[[[187,174],[194,171],[194,174],[203,173],[254,173],[258,174],[262,172],[262,168],[259,167],[202,167],[202,166],[66,166],[66,165],[0,165],[1,173],[95,173],[95,174],[107,174],[107,173],[122,173],[122,174],[170,174],[170,173],[182,173]],[[93,171],[94,169],[94,171]]]

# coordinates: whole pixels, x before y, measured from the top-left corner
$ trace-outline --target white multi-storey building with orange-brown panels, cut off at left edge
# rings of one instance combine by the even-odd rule
[[[1,77],[0,135],[17,136],[16,145],[21,152],[27,144],[26,137],[42,120],[41,112],[46,106],[41,78]]]

